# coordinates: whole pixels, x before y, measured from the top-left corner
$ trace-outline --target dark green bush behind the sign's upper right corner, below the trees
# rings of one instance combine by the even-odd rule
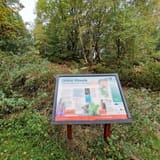
[[[127,64],[125,61],[108,66],[97,64],[93,71],[94,73],[118,73],[124,86],[160,90],[160,63],[158,61],[141,63],[137,66]]]

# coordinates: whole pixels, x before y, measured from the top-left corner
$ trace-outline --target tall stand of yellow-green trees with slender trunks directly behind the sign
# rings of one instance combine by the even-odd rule
[[[40,53],[98,63],[147,54],[156,48],[158,1],[37,1],[34,29]]]

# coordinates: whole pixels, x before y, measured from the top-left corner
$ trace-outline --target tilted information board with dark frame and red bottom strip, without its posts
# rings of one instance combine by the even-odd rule
[[[117,74],[58,75],[54,124],[131,122]]]

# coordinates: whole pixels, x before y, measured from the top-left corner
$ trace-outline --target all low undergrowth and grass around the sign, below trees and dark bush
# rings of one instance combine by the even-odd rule
[[[55,75],[75,68],[38,55],[0,58],[0,159],[159,160],[160,92],[123,88],[131,124],[113,124],[108,142],[103,125],[74,125],[68,141],[65,125],[51,125],[51,111]]]

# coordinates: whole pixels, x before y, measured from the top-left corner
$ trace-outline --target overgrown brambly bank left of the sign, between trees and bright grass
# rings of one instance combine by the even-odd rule
[[[2,54],[0,56],[0,115],[19,112],[31,108],[32,105],[37,110],[44,109],[46,112],[52,103],[56,74],[71,71],[67,66],[52,64],[39,55],[4,56]]]

